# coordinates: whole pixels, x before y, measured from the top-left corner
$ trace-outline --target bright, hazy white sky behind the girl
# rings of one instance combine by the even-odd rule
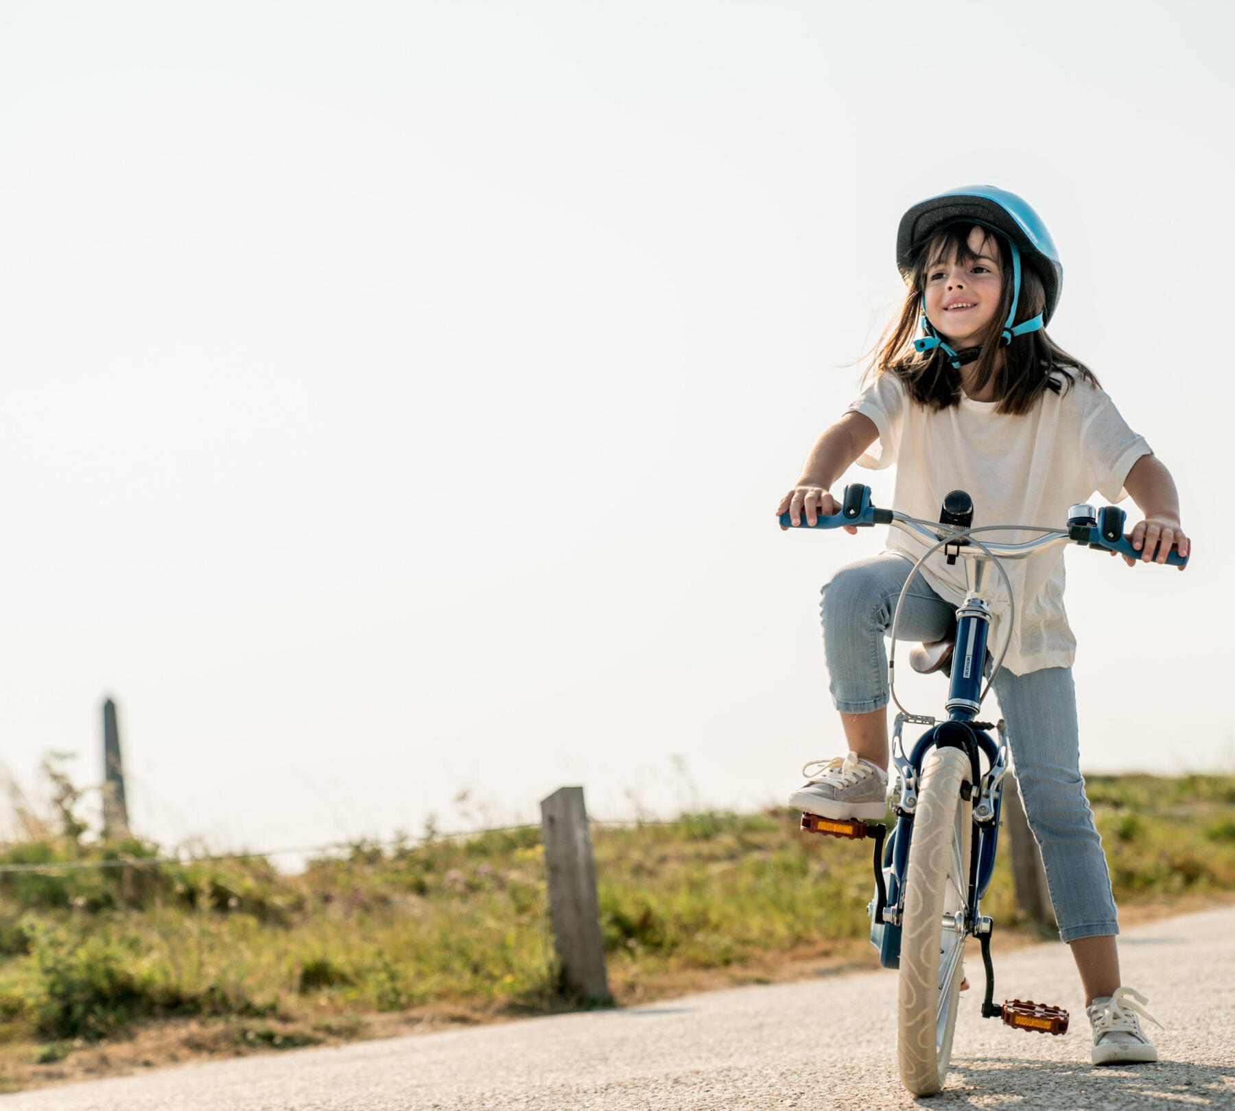
[[[779,802],[844,751],[772,510],[989,181],[1179,484],[1068,554],[1087,769],[1231,769],[1225,2],[0,7],[0,759],[163,843]],[[887,505],[892,478],[872,481]],[[920,710],[940,681],[906,685]],[[469,797],[454,799],[461,791]]]

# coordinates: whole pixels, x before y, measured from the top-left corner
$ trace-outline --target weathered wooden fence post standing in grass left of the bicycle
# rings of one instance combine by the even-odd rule
[[[559,788],[541,801],[541,838],[548,872],[548,910],[563,986],[572,995],[609,1002],[605,943],[597,900],[597,865],[583,788]]]

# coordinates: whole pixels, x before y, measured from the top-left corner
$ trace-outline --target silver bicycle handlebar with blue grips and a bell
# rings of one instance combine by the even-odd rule
[[[1098,515],[1098,525],[1068,525],[1066,528],[1045,528],[1037,525],[983,525],[978,528],[953,528],[948,525],[940,525],[936,521],[924,521],[920,517],[910,517],[895,510],[876,509],[871,502],[871,488],[862,485],[848,485],[845,488],[845,497],[841,502],[840,512],[830,516],[820,516],[814,526],[806,523],[803,517],[800,525],[792,523],[789,514],[781,515],[781,523],[787,528],[844,528],[845,526],[857,526],[869,528],[876,525],[892,525],[916,536],[918,539],[929,544],[935,544],[941,539],[955,537],[955,554],[967,559],[983,559],[986,552],[979,548],[966,548],[965,537],[971,532],[1039,532],[1037,539],[1026,541],[1019,544],[1000,544],[983,539],[983,548],[989,549],[993,556],[1000,559],[1024,559],[1047,548],[1062,544],[1082,544],[1089,548],[1098,548],[1104,552],[1115,552],[1126,556],[1129,559],[1140,560],[1144,552],[1137,552],[1123,532],[1124,511],[1114,506],[1104,507]],[[948,554],[953,554],[950,549]],[[1157,556],[1157,549],[1155,549]],[[1178,552],[1170,552],[1166,557],[1170,567],[1187,567],[1187,556]]]

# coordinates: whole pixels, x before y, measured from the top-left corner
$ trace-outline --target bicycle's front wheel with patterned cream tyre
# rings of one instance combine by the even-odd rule
[[[923,764],[905,867],[897,1028],[900,1079],[914,1095],[939,1091],[952,1059],[973,836],[961,785],[971,779],[960,748],[932,749]]]

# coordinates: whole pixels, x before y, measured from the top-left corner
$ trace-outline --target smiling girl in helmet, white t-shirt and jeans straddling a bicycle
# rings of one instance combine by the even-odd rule
[[[777,515],[813,526],[839,511],[831,486],[851,464],[899,464],[893,505],[916,517],[934,518],[956,489],[972,495],[974,526],[1055,526],[1094,490],[1110,501],[1128,494],[1144,514],[1130,537],[1141,559],[1165,563],[1172,547],[1187,556],[1170,472],[1094,374],[1046,335],[1063,268],[1037,214],[989,185],[950,190],[904,215],[897,262],[908,290],[877,348],[872,380],[815,442]],[[915,339],[919,325],[924,335]],[[1028,538],[997,536],[1009,543]],[[883,817],[883,638],[925,551],[892,532],[888,551],[841,568],[824,586],[830,690],[850,751],[808,764],[815,770],[804,769],[809,778],[789,797],[792,806],[826,818]],[[1147,1016],[1146,1000],[1120,984],[1115,902],[1079,772],[1076,638],[1063,609],[1062,548],[1018,560],[1009,575],[1015,616],[994,689],[1060,936],[1084,986],[1093,1063],[1156,1060],[1137,1018]],[[963,568],[931,557],[908,586],[902,635],[942,641],[965,594]]]

